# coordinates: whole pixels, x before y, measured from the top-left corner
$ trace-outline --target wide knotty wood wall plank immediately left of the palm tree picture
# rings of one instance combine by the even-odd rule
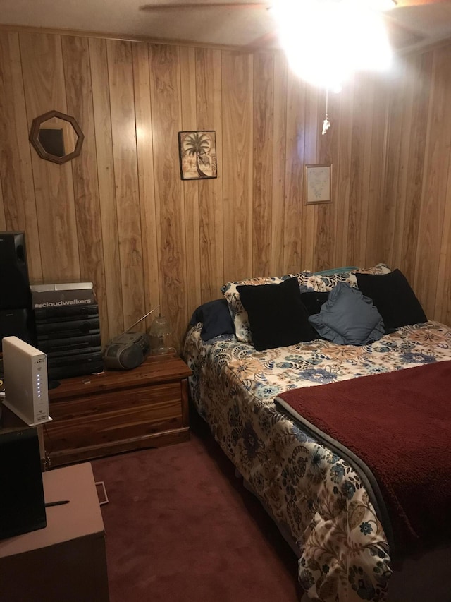
[[[157,240],[161,313],[171,321],[178,346],[188,322],[185,215],[178,158],[181,130],[180,52],[149,45]]]

